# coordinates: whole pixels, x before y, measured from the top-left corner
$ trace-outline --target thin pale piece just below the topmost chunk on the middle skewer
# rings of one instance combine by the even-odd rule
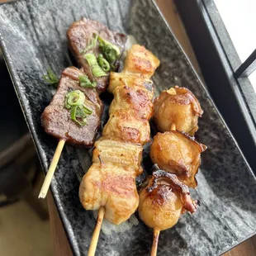
[[[153,98],[154,85],[152,80],[150,80],[149,78],[141,78],[136,73],[124,73],[124,72],[110,73],[110,82],[109,82],[109,87],[107,88],[108,92],[113,93],[117,87],[124,86],[124,85],[130,88],[135,88],[135,87],[145,88],[152,93],[152,98]]]

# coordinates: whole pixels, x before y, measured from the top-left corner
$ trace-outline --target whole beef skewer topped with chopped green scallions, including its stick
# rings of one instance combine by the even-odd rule
[[[117,60],[126,44],[125,35],[85,18],[73,22],[67,36],[69,48],[82,69],[64,70],[55,97],[42,115],[45,131],[58,138],[59,144],[41,188],[41,198],[47,194],[65,142],[93,145],[102,115],[102,102],[97,92],[106,90],[109,73],[118,68]],[[79,93],[75,95],[74,91]]]

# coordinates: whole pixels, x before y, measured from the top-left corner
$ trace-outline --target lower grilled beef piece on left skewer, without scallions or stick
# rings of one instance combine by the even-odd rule
[[[55,97],[45,108],[41,121],[45,131],[58,139],[64,139],[73,145],[92,146],[100,125],[103,105],[95,89],[79,85],[78,77],[81,75],[84,73],[75,67],[64,69]],[[85,126],[78,126],[72,121],[70,111],[64,107],[65,95],[73,90],[83,92],[87,106],[92,109]]]

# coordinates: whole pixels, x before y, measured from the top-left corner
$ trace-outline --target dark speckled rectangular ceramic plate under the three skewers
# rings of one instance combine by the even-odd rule
[[[40,114],[55,92],[41,77],[48,67],[60,73],[72,64],[66,31],[81,17],[135,36],[161,60],[154,75],[157,90],[183,85],[196,94],[205,111],[197,139],[208,149],[202,155],[199,185],[192,192],[193,197],[201,200],[201,207],[193,216],[184,215],[173,229],[161,232],[159,255],[221,254],[254,235],[254,175],[206,88],[150,0],[31,0],[1,5],[3,54],[44,169],[49,166],[57,141],[40,126]],[[95,223],[92,212],[85,211],[78,199],[76,174],[81,176],[89,165],[86,149],[66,146],[51,184],[73,253],[77,255],[87,254]],[[132,223],[123,233],[107,232],[109,229],[102,232],[97,255],[148,255],[152,231],[141,221],[139,225]]]

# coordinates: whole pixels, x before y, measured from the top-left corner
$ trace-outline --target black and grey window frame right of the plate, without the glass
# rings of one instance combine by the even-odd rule
[[[241,68],[239,55],[213,0],[174,2],[197,56],[206,86],[256,173],[256,93],[249,78],[238,76],[248,69]],[[246,64],[243,67],[246,68]]]

